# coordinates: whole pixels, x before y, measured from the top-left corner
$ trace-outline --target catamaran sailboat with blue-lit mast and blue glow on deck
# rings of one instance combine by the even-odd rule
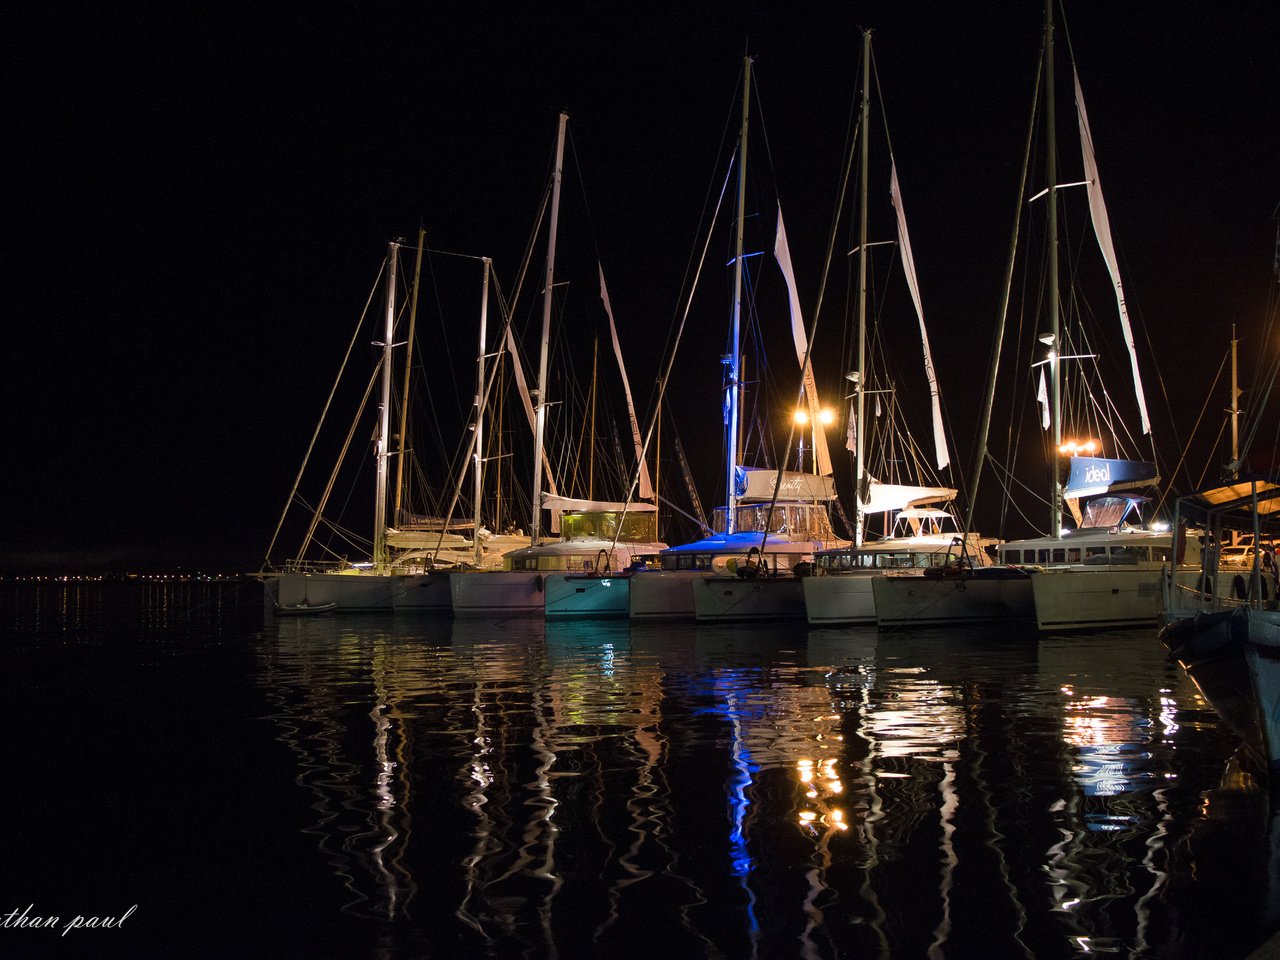
[[[746,157],[751,95],[751,59],[744,60],[742,111],[737,143],[737,219],[733,255],[733,310],[724,374],[723,417],[724,506],[716,509],[712,529],[692,543],[659,554],[660,568],[639,572],[628,581],[632,620],[701,618],[695,596],[714,579],[723,590],[760,582],[812,562],[817,550],[841,543],[831,527],[828,509],[836,498],[831,476],[742,465],[741,403],[744,297],[744,224]],[[723,577],[728,582],[722,585]],[[753,594],[755,591],[751,591]],[[718,618],[714,613],[709,618]],[[735,607],[730,618],[773,617],[765,611]]]

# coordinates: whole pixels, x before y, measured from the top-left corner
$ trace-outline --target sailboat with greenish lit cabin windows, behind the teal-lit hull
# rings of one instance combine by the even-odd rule
[[[552,174],[550,229],[547,242],[547,274],[543,289],[543,325],[538,367],[538,404],[534,411],[534,476],[530,541],[503,554],[502,570],[458,571],[449,575],[453,614],[543,614],[547,579],[554,573],[607,571],[630,566],[639,557],[657,556],[666,547],[657,539],[657,508],[652,503],[617,503],[562,497],[548,476],[544,460],[548,408],[548,353],[550,348],[552,296],[556,274],[556,239],[559,225],[561,180],[568,115],[559,115],[556,163]],[[526,406],[527,401],[526,401]],[[541,540],[543,511],[552,513],[552,530],[559,539]]]

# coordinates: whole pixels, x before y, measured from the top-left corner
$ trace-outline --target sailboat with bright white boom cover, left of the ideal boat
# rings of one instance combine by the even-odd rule
[[[855,541],[849,547],[823,550],[814,558],[812,576],[804,577],[804,612],[812,625],[828,623],[874,623],[876,604],[872,594],[872,579],[886,571],[910,572],[924,576],[943,568],[948,562],[959,562],[961,557],[972,558],[973,563],[989,563],[987,548],[995,541],[964,532],[951,509],[947,509],[957,494],[955,488],[941,485],[911,485],[884,483],[873,477],[867,456],[867,401],[874,394],[879,406],[877,384],[868,376],[865,360],[867,340],[867,173],[868,145],[870,133],[870,52],[872,33],[863,33],[863,96],[860,119],[861,178],[860,178],[860,224],[859,224],[859,287],[858,287],[858,325],[859,356],[856,370],[850,375],[854,384],[855,403],[850,411],[850,433],[852,440],[847,445],[855,453],[858,467],[858,524]],[[950,452],[943,433],[942,412],[937,376],[929,351],[929,338],[924,328],[924,311],[920,306],[919,282],[915,276],[915,261],[906,229],[906,214],[897,179],[896,163],[891,166],[890,197],[897,212],[897,243],[901,250],[902,266],[908,285],[920,324],[920,339],[924,351],[924,370],[929,381],[934,462],[938,470],[950,463]],[[896,407],[896,404],[893,404]],[[895,428],[890,428],[891,430]],[[906,438],[908,443],[910,438]],[[923,457],[915,458],[916,462]],[[923,467],[922,467],[923,470]],[[879,472],[878,470],[876,472]],[[883,474],[882,474],[883,476]],[[867,518],[884,518],[884,530],[878,539],[869,539]]]

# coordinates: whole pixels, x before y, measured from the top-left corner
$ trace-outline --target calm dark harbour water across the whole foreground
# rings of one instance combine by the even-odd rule
[[[1266,797],[1147,631],[264,623],[236,584],[0,585],[0,914],[59,918],[4,957],[1216,959],[1280,927]]]

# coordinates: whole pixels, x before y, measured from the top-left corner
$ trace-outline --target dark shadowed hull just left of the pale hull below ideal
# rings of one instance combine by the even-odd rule
[[[876,622],[884,626],[937,626],[1033,620],[1030,577],[877,576],[872,577]]]

